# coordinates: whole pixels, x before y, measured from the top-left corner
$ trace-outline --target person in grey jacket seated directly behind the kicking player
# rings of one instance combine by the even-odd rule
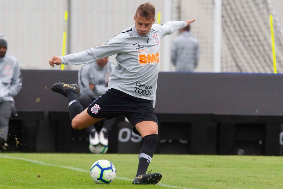
[[[80,95],[78,100],[82,104],[83,109],[86,109],[95,99],[108,90],[109,76],[115,67],[115,64],[108,61],[108,59],[108,57],[101,58],[82,66],[79,70],[78,85],[80,86]],[[108,135],[112,130],[115,118],[102,121],[103,126],[101,129],[95,124],[86,128],[91,145],[101,143],[104,146],[108,146]],[[99,131],[99,134],[97,131]]]

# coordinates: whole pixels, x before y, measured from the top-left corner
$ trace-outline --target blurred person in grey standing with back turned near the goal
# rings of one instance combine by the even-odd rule
[[[172,43],[171,61],[176,71],[194,71],[199,58],[198,39],[192,36],[190,25],[180,29],[180,32]]]

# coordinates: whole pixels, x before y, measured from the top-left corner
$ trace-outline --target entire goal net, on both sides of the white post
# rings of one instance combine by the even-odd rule
[[[192,5],[193,1],[189,2]],[[199,39],[201,61],[212,63],[214,0],[198,0],[194,4],[198,11],[190,15],[188,12],[194,10],[182,9],[186,1],[174,0],[174,3],[181,4],[180,12],[173,12],[175,20],[180,13],[182,20],[190,16],[197,17],[199,24],[205,24],[201,23],[202,19],[211,22],[205,24],[210,32],[203,31],[204,26],[196,22],[192,35]],[[272,14],[277,72],[283,73],[283,30],[271,0],[222,0],[222,4],[221,71],[274,72],[269,17]]]

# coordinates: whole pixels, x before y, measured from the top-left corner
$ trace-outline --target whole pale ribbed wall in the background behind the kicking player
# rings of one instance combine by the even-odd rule
[[[223,0],[224,2],[225,0]],[[143,0],[70,0],[66,54],[80,52],[103,44],[111,37],[134,24],[136,8]],[[157,13],[161,12],[161,24],[177,20],[178,0],[149,0]],[[171,10],[165,11],[168,2]],[[196,18],[192,34],[201,45],[201,57],[197,71],[213,71],[213,9],[212,0],[181,0],[181,19]],[[278,18],[283,20],[283,1],[272,0]],[[0,0],[0,33],[8,38],[8,54],[18,58],[22,69],[51,68],[48,60],[62,54],[64,11],[68,0]],[[168,16],[169,15],[169,16]],[[167,19],[165,19],[167,18]],[[171,19],[170,19],[171,18]],[[156,21],[157,23],[157,21]],[[173,71],[170,61],[171,41],[178,32],[166,36],[161,43],[161,71]],[[67,50],[70,49],[68,52]],[[114,56],[110,57],[114,61]],[[81,66],[65,66],[79,69]]]

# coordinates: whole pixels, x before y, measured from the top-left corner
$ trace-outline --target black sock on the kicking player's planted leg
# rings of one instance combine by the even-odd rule
[[[146,173],[149,163],[153,157],[155,146],[159,137],[158,134],[150,134],[143,137],[143,146],[140,149],[139,165],[137,168],[137,175]]]

